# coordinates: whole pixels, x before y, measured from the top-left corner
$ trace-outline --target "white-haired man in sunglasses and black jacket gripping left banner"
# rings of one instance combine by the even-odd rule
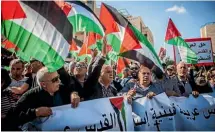
[[[51,107],[71,103],[77,107],[80,97],[72,88],[60,86],[57,72],[48,72],[46,67],[37,72],[39,86],[26,92],[11,109],[3,121],[3,130],[17,130],[17,127],[36,117],[52,114]]]

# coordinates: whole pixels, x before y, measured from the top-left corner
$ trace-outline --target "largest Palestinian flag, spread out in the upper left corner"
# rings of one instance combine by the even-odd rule
[[[1,33],[49,71],[64,65],[72,43],[72,25],[53,1],[2,1]]]

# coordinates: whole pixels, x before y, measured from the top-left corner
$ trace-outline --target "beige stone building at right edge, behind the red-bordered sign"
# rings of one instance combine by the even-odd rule
[[[200,29],[202,38],[211,38],[213,52],[215,54],[215,22],[207,23]]]

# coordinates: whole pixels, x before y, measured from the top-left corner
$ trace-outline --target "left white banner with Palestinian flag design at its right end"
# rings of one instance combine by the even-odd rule
[[[131,105],[123,97],[102,98],[52,108],[53,115],[25,124],[23,130],[133,131]]]

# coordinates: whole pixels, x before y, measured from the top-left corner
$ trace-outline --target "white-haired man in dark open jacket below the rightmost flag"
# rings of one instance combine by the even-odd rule
[[[198,97],[199,92],[197,91],[194,78],[189,77],[188,68],[184,62],[180,62],[177,65],[177,76],[173,79],[176,80],[181,96],[188,97],[192,93],[194,97]]]

